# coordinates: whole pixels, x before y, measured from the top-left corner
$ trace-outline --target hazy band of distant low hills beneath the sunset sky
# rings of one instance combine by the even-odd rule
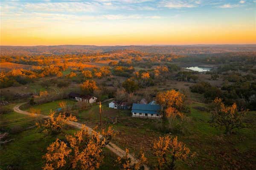
[[[61,55],[61,54],[93,54],[118,50],[131,50],[154,54],[212,54],[225,52],[256,52],[256,44],[252,45],[184,45],[184,46],[0,46],[1,55]]]

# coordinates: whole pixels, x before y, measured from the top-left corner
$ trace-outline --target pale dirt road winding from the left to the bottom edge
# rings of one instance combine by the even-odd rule
[[[25,115],[33,115],[33,116],[40,116],[42,118],[49,118],[49,116],[46,116],[46,115],[38,115],[38,114],[32,114],[30,112],[26,112],[26,111],[23,111],[23,110],[20,110],[20,106],[23,105],[23,104],[26,104],[27,102],[25,103],[21,103],[21,104],[18,104],[16,105],[13,110],[15,112],[18,112],[18,113],[21,113],[21,114],[25,114]],[[81,129],[82,128],[82,124],[81,123],[78,123],[78,122],[74,122],[74,121],[68,121],[67,122],[68,125],[72,126],[72,127],[75,127],[75,128],[78,128],[78,129]],[[91,134],[93,129],[86,126],[88,128],[88,131],[89,133]],[[102,137],[100,135],[100,137]],[[112,142],[110,142],[108,145],[106,145],[106,147],[111,150],[113,153],[115,153],[117,156],[120,156],[120,157],[123,157],[125,156],[125,151],[122,150],[120,147],[116,146],[116,144],[113,144]],[[134,164],[136,161],[136,159],[130,154],[129,157],[131,158],[131,163]],[[149,170],[149,168],[144,165],[145,167],[145,170]]]

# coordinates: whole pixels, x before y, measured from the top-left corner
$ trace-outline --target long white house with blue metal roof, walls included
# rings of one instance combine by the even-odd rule
[[[151,102],[150,102],[151,103]],[[158,104],[136,104],[132,105],[132,116],[143,118],[160,118],[159,110],[161,106]]]

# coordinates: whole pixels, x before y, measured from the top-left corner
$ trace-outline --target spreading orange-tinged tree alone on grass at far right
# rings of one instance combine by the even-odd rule
[[[230,135],[234,129],[245,127],[243,118],[247,110],[239,112],[236,103],[233,103],[230,107],[225,106],[220,98],[215,98],[212,105],[211,113],[213,126],[224,127],[227,135]]]

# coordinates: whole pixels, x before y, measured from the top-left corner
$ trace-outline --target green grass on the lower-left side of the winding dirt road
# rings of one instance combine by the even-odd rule
[[[44,166],[42,156],[47,152],[47,147],[56,138],[64,139],[65,134],[73,134],[76,129],[65,130],[57,136],[45,135],[39,132],[33,117],[16,112],[0,115],[1,133],[9,133],[4,140],[14,139],[0,146],[1,170],[41,170]],[[104,163],[99,170],[116,170],[114,161],[116,155],[105,148]]]

